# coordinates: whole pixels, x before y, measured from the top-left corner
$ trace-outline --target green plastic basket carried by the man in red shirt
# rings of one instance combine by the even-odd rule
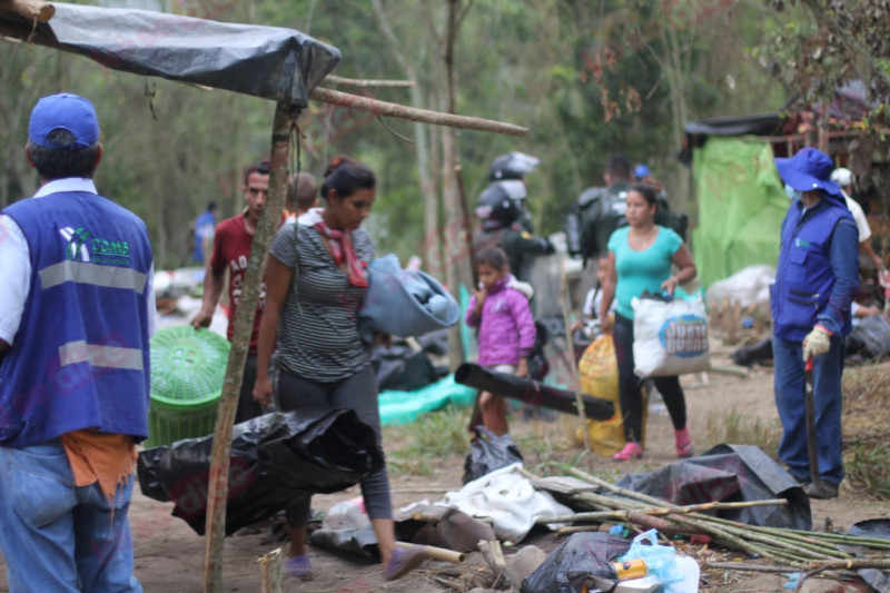
[[[166,327],[152,336],[146,446],[214,432],[229,349],[224,337],[190,325]]]

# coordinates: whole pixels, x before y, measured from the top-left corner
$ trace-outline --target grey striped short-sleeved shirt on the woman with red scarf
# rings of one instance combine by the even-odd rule
[[[353,231],[353,246],[362,261],[367,264],[374,258],[365,230]],[[278,365],[318,382],[339,380],[367,366],[370,349],[358,336],[357,315],[367,288],[347,283],[319,231],[286,224],[275,236],[269,253],[297,271],[296,293],[291,284],[278,322]]]

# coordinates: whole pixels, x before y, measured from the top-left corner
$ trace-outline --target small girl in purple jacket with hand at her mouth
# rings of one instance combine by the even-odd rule
[[[478,364],[495,373],[528,376],[528,354],[535,343],[535,324],[527,297],[513,288],[507,256],[497,247],[476,256],[482,288],[473,291],[466,324],[478,327]],[[482,392],[478,401],[482,423],[501,436],[510,432],[503,396]]]

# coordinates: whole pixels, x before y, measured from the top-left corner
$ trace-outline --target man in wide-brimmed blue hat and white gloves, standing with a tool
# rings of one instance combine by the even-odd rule
[[[852,297],[859,288],[859,231],[831,180],[831,159],[814,148],[775,166],[791,207],[782,239],[771,305],[774,318],[775,405],[782,421],[779,458],[801,483],[818,472],[814,498],[833,498],[843,480],[841,375],[844,338],[850,334]],[[805,365],[812,362],[819,467],[807,449]]]

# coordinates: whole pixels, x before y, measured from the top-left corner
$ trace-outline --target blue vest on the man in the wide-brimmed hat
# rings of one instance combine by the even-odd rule
[[[852,219],[847,206],[823,197],[801,220],[803,208],[792,204],[782,226],[782,245],[775,285],[772,287],[773,333],[781,338],[802,342],[817,324],[834,288],[831,269],[831,236],[841,218]],[[841,333],[851,330],[846,312]]]

